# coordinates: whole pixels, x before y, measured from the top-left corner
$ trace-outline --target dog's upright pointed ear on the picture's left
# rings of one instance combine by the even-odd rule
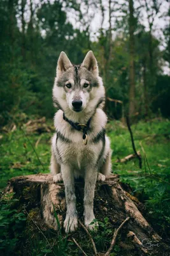
[[[61,52],[57,62],[57,77],[61,76],[68,68],[73,67],[65,52]]]

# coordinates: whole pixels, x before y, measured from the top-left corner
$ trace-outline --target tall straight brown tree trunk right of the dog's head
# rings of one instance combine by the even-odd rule
[[[134,4],[129,0],[129,50],[130,50],[130,74],[129,74],[129,116],[135,112],[135,71],[134,71]]]

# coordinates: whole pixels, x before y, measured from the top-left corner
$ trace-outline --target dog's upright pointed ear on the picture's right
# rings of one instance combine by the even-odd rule
[[[92,51],[87,52],[83,63],[81,64],[83,67],[87,68],[90,72],[92,72],[95,76],[99,76],[99,69],[97,66],[97,60]]]

